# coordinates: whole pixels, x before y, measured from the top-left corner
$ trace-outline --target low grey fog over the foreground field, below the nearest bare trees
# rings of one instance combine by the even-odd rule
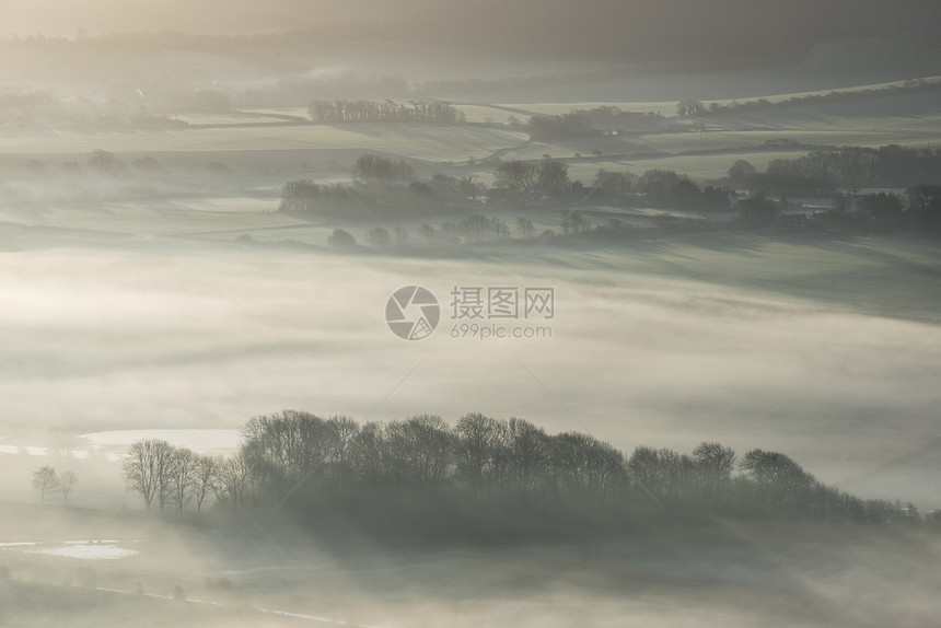
[[[37,524],[34,512],[4,509],[4,535],[24,542],[2,548],[3,617],[21,625],[928,626],[938,610],[926,571],[937,538],[914,534],[730,526],[641,531],[631,544],[428,551],[61,512]],[[79,540],[98,534],[108,536]],[[54,546],[128,555],[42,559]],[[32,584],[43,581],[56,584]]]

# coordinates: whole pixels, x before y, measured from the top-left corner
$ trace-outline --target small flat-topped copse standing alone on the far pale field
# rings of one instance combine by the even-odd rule
[[[464,112],[445,101],[312,101],[307,105],[312,123],[430,123],[462,124]]]

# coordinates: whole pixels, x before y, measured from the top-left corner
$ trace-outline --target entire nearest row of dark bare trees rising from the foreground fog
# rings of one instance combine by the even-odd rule
[[[288,511],[311,524],[377,517],[411,525],[426,515],[421,525],[461,521],[465,532],[533,517],[609,530],[644,517],[922,522],[911,504],[852,497],[780,452],[739,455],[704,442],[690,453],[638,446],[625,455],[586,433],[550,434],[479,412],[451,426],[432,415],[360,423],[284,410],[248,420],[229,458],[139,441],[124,479],[148,509],[198,513],[211,496],[220,507]]]

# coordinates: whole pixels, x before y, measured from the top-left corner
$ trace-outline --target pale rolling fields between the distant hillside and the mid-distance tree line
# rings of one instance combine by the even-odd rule
[[[871,85],[867,85],[871,86]],[[881,86],[881,85],[875,85]],[[659,92],[658,92],[659,93]],[[814,92],[767,94],[770,101]],[[560,90],[559,94],[570,94]],[[763,96],[760,93],[750,97]],[[478,95],[479,97],[479,95]],[[489,95],[491,98],[497,94]],[[721,101],[720,101],[721,102]],[[465,104],[472,120],[506,121],[509,115],[525,120],[526,113],[566,113],[576,107],[615,104],[631,111],[675,113],[675,101],[569,102],[498,104],[491,100]],[[169,131],[111,133],[18,132],[4,139],[0,161],[23,167],[36,160],[47,168],[79,160],[92,150],[104,149],[120,158],[153,156],[165,167],[175,164],[205,168],[212,161],[229,166],[239,176],[280,176],[266,181],[280,186],[284,176],[312,176],[339,181],[348,176],[361,152],[376,151],[415,160],[427,171],[472,175],[488,183],[492,164],[474,165],[492,156],[538,160],[544,154],[572,160],[572,174],[590,179],[597,167],[630,170],[650,167],[687,173],[707,181],[724,175],[737,159],[765,167],[774,159],[792,158],[794,151],[769,149],[769,140],[791,140],[817,146],[880,147],[897,143],[927,147],[941,142],[941,91],[873,96],[859,101],[794,105],[766,112],[743,112],[704,119],[709,127],[725,130],[698,132],[629,133],[621,137],[586,137],[551,142],[528,142],[524,132],[480,126],[437,127],[414,124],[307,125],[271,116],[305,117],[303,108],[259,109],[251,115],[189,116],[196,126]],[[731,130],[730,130],[731,129]],[[594,156],[601,151],[601,156]],[[580,154],[581,158],[574,158]],[[437,168],[437,170],[435,170]],[[181,176],[177,173],[177,176]],[[204,175],[205,176],[205,175]]]

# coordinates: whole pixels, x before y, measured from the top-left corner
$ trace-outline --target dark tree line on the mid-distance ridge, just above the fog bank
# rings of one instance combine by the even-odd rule
[[[719,211],[732,207],[731,190],[747,189],[752,193],[751,198],[743,198],[737,203],[740,223],[762,226],[774,222],[780,209],[766,191],[785,198],[833,195],[837,183],[851,184],[848,187],[855,188],[861,185],[879,187],[876,183],[899,183],[903,178],[937,182],[941,181],[941,151],[897,146],[815,150],[798,159],[774,160],[765,172],[759,172],[745,160],[737,160],[725,177],[705,186],[672,170],[651,168],[636,175],[601,168],[591,186],[586,187],[581,182],[572,182],[568,172],[564,160],[549,155],[538,161],[500,162],[493,171],[493,185],[487,188],[469,176],[452,177],[441,173],[420,181],[406,160],[365,153],[357,159],[355,181],[350,184],[317,184],[310,179],[284,184],[280,210],[300,216],[362,219],[416,217],[441,213],[449,208],[466,208],[471,201],[486,196],[487,202],[495,207],[602,202]],[[904,195],[869,193],[859,197],[836,195],[834,199],[835,209],[828,217],[833,226],[853,228],[855,223],[846,212],[856,210],[864,214],[868,221],[866,229],[870,230],[941,231],[941,186],[936,183],[913,185]],[[675,222],[669,221],[665,213],[662,218],[664,223]],[[449,222],[437,232],[433,228],[422,226],[422,230],[426,233],[419,235],[429,242],[481,241],[471,235],[472,230],[456,223]],[[577,225],[571,231],[580,233],[586,230]],[[623,231],[606,229],[607,233]],[[564,229],[564,233],[569,232]],[[507,230],[495,225],[492,237],[483,240],[499,240],[508,234]],[[535,233],[521,229],[518,235],[531,237]],[[374,240],[371,243],[376,246],[388,242],[381,232],[370,240]],[[338,242],[350,243],[348,239]]]

